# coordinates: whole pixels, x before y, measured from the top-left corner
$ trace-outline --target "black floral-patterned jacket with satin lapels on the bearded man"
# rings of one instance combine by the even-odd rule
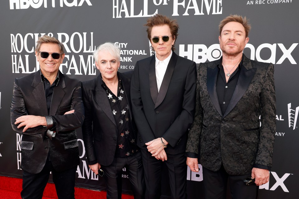
[[[201,63],[197,70],[195,119],[186,152],[198,153],[201,140],[200,164],[212,171],[223,164],[232,175],[250,174],[253,164],[271,167],[276,130],[273,64],[244,56],[236,89],[224,114],[216,92],[219,64],[220,59]]]

